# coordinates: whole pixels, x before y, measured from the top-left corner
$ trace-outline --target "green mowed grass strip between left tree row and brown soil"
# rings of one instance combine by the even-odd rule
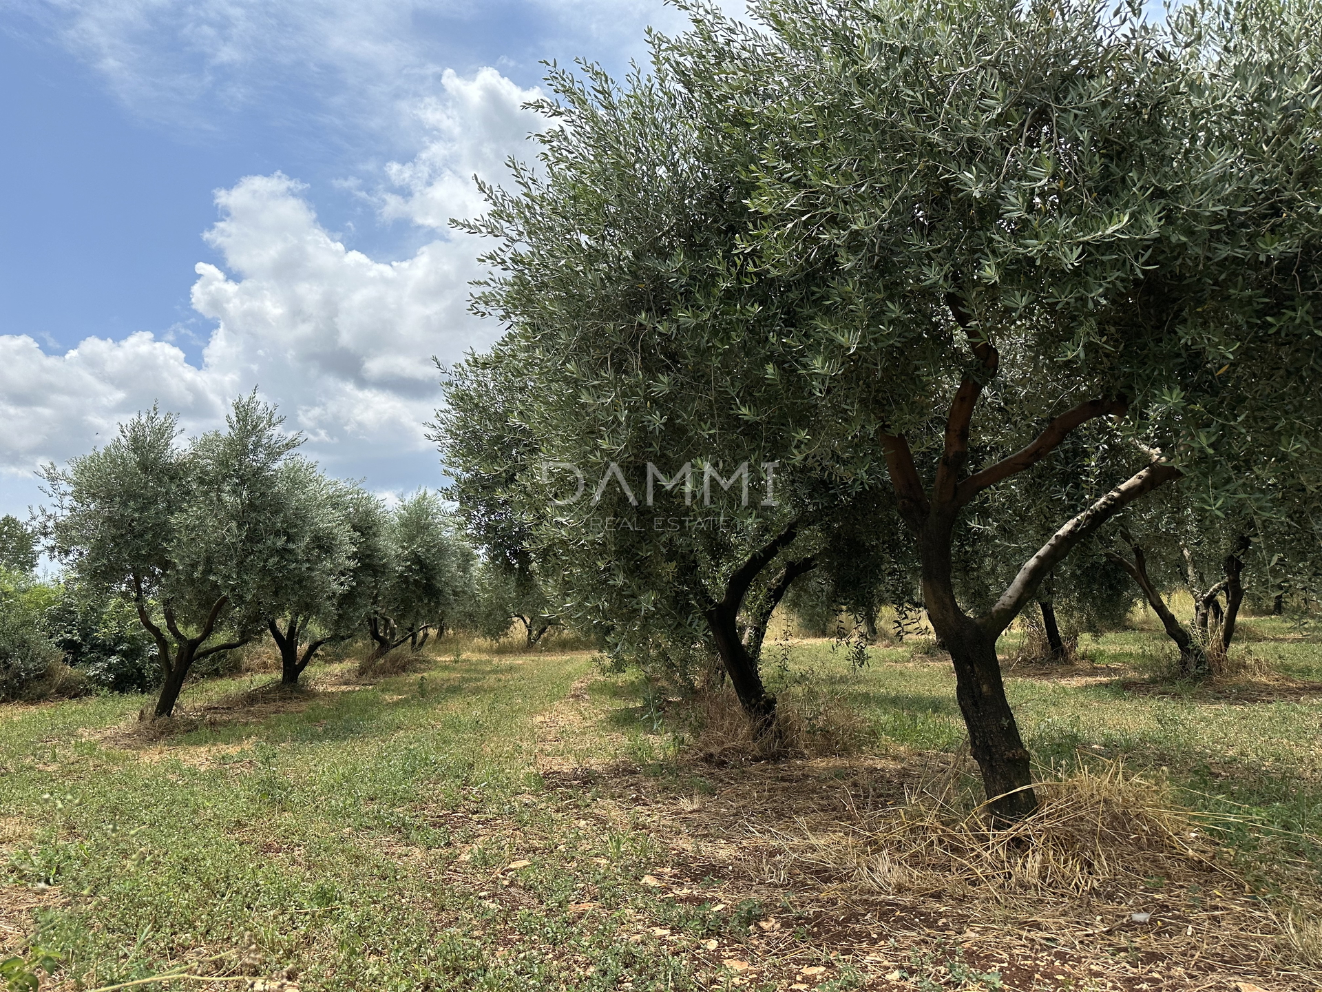
[[[527,857],[538,911],[510,914],[486,891],[514,853],[535,853],[521,844],[538,833],[531,717],[587,667],[436,661],[139,751],[97,739],[126,721],[131,733],[136,700],[8,716],[0,798],[36,824],[15,868],[69,899],[40,915],[37,943],[86,985],[197,960],[308,988],[583,987],[579,950],[603,988],[621,970],[664,975],[665,959],[640,964],[615,929],[602,943],[579,914],[547,911],[572,885]],[[600,840],[588,854],[612,854],[599,873],[613,880],[632,847]]]

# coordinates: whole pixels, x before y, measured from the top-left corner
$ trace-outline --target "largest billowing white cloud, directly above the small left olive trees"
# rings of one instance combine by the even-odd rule
[[[198,265],[193,307],[218,321],[208,370],[260,382],[319,451],[415,451],[439,399],[432,356],[457,361],[493,329],[467,312],[473,246],[435,241],[374,262],[316,221],[288,177],[251,176],[217,196],[208,241],[234,278]]]

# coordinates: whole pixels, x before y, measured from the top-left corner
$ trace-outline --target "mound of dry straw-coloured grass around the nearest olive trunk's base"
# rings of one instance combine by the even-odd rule
[[[1036,786],[1027,819],[990,829],[953,787],[911,788],[908,803],[839,832],[804,837],[801,857],[884,893],[1113,895],[1173,873],[1224,873],[1216,844],[1158,782],[1117,762]]]

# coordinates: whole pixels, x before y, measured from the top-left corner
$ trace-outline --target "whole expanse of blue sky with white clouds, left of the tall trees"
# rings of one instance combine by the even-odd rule
[[[0,512],[160,399],[259,386],[332,472],[440,481],[432,354],[541,60],[615,71],[660,0],[0,0]]]

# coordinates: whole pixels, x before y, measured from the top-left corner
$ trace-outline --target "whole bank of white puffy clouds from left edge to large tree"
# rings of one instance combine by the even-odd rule
[[[521,110],[530,95],[490,69],[447,74],[444,99],[427,110],[435,139],[394,167],[402,192],[385,208],[432,227],[476,209],[464,173],[500,179],[537,127]],[[221,218],[205,238],[222,265],[197,265],[192,288],[194,310],[215,321],[201,365],[145,332],[89,337],[63,354],[0,336],[9,426],[0,474],[30,477],[42,460],[87,451],[156,401],[189,427],[214,426],[229,398],[254,385],[338,475],[375,475],[383,459],[435,467],[423,436],[440,399],[432,356],[457,361],[497,333],[468,313],[479,246],[447,233],[410,258],[375,261],[329,233],[307,188],[279,172],[242,179],[215,202]]]

